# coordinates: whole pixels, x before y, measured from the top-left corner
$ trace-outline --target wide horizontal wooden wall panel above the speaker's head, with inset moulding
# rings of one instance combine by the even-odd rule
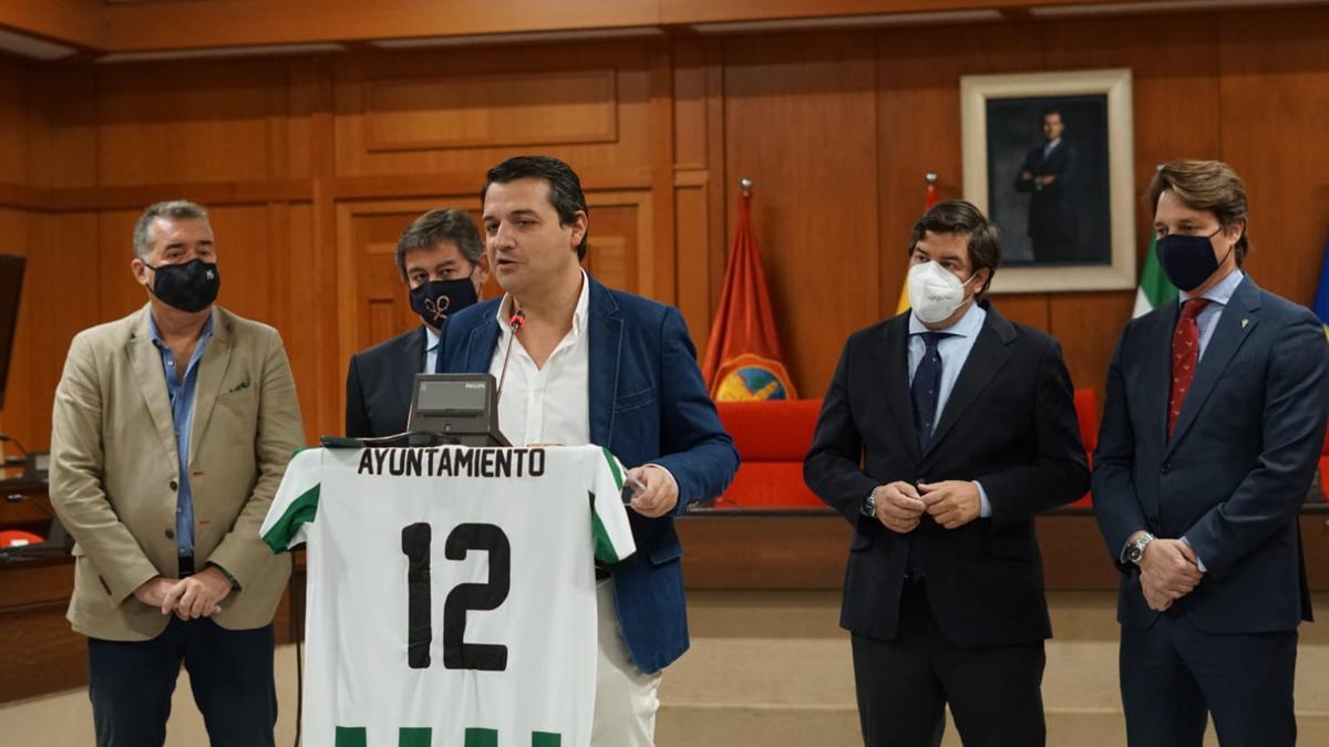
[[[469,173],[478,189],[485,170],[521,153],[556,156],[579,174],[651,166],[646,44],[363,53],[336,65],[342,175]],[[384,86],[392,96],[377,93]]]

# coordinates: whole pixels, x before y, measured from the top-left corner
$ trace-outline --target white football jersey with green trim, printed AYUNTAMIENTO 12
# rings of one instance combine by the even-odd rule
[[[589,744],[622,484],[594,445],[298,453],[262,534],[307,542],[304,744]]]

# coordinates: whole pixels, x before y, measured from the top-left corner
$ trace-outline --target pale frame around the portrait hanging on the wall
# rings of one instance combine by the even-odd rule
[[[990,187],[1005,189],[990,179],[995,173],[995,154],[989,153],[989,110],[994,104],[1014,102],[1029,106],[1046,101],[1083,100],[1106,102],[1106,117],[1099,126],[1099,171],[1106,171],[1106,185],[1096,186],[1102,207],[1098,210],[1100,229],[1099,249],[1088,261],[1029,261],[1002,265],[993,278],[991,292],[1065,292],[1128,290],[1136,286],[1135,276],[1135,137],[1132,112],[1131,70],[1112,68],[1099,70],[1061,70],[1042,73],[1011,73],[962,76],[960,78],[961,133],[964,158],[965,199],[985,215],[1010,213],[1009,206],[991,205]],[[1102,105],[1100,105],[1102,108]],[[995,122],[994,122],[995,125]],[[1033,126],[1033,125],[1030,125]],[[1046,157],[1045,152],[1045,157]],[[1009,158],[1003,167],[1010,169]],[[991,183],[990,183],[991,182]],[[1014,194],[1015,187],[1010,187]],[[999,194],[999,193],[995,193]],[[1021,195],[1023,197],[1023,195]],[[1005,199],[1005,197],[1002,198]],[[1029,198],[1026,198],[1027,202]],[[1102,213],[1106,211],[1106,215]],[[995,221],[995,218],[994,218]],[[1010,238],[1009,226],[1003,237]],[[1033,222],[1030,218],[1029,222]],[[1022,227],[1027,230],[1022,222]],[[1106,235],[1102,235],[1106,233]],[[1021,237],[1023,238],[1023,237]],[[1003,241],[1003,247],[1007,242]]]

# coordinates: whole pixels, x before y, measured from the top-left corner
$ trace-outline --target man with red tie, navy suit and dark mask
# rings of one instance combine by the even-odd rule
[[[1181,295],[1122,331],[1094,455],[1094,505],[1122,572],[1131,747],[1296,743],[1297,625],[1310,619],[1297,513],[1325,436],[1329,346],[1245,261],[1245,186],[1174,161],[1150,186]]]

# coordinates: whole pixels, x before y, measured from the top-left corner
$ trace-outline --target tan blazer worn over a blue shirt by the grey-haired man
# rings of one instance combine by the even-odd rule
[[[149,307],[80,332],[56,389],[51,502],[73,534],[69,621],[84,635],[146,641],[166,627],[134,589],[178,574],[175,488],[179,460]],[[199,360],[190,439],[194,562],[241,585],[213,615],[245,630],[271,622],[291,573],[259,526],[286,463],[304,443],[291,366],[276,330],[213,307]]]

